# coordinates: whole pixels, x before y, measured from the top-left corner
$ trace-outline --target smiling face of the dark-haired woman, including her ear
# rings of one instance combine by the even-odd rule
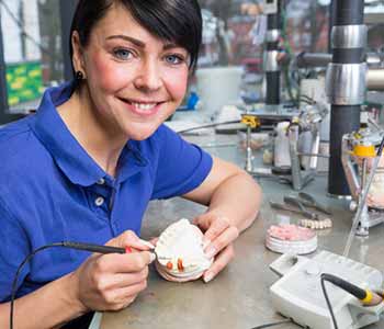
[[[75,66],[87,78],[92,114],[103,129],[142,140],[180,105],[189,54],[140,26],[113,5],[93,27],[89,44],[75,43]]]

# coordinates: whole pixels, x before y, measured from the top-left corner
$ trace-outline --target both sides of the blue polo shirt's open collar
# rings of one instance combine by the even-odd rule
[[[74,184],[90,186],[108,174],[77,141],[56,110],[72,91],[74,82],[47,89],[31,128]],[[127,143],[118,159],[118,181],[137,173],[147,162],[137,145]]]

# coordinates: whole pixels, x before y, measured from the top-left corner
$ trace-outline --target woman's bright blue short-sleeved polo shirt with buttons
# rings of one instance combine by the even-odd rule
[[[146,140],[129,140],[116,177],[109,175],[57,113],[71,92],[71,83],[48,89],[35,115],[0,129],[0,303],[10,299],[15,271],[34,249],[63,240],[104,245],[127,229],[139,235],[150,200],[190,192],[211,171],[210,155],[161,125]],[[89,256],[64,248],[37,253],[21,272],[16,296]]]

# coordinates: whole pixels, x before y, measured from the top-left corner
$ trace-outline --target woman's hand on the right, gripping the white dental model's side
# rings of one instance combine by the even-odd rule
[[[204,232],[204,251],[208,258],[215,257],[211,268],[203,275],[210,282],[235,257],[233,242],[239,236],[239,229],[225,217],[214,213],[205,213],[193,220]]]

